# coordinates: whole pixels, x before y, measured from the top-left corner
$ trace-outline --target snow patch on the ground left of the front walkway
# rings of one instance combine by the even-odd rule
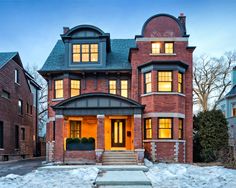
[[[98,171],[95,167],[86,167],[71,170],[35,170],[24,176],[9,174],[0,178],[0,188],[90,188]]]

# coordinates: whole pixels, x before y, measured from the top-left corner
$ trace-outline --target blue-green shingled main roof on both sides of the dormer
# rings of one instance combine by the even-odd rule
[[[127,70],[131,69],[128,61],[129,49],[136,47],[134,39],[111,39],[111,52],[107,54],[106,67],[96,67],[99,70]],[[39,72],[67,70],[65,66],[65,46],[58,40],[52,52]],[[92,68],[91,68],[92,69]]]

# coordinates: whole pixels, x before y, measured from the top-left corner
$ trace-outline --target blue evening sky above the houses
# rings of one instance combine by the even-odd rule
[[[236,50],[236,0],[0,0],[0,51],[41,68],[62,27],[92,24],[111,38],[134,38],[152,15],[187,16],[195,55]]]

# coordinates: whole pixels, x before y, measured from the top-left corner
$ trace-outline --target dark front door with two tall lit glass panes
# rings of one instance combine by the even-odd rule
[[[125,120],[111,120],[111,146],[125,147]]]

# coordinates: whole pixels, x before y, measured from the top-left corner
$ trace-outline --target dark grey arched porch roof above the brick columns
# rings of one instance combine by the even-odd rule
[[[52,106],[57,115],[133,115],[141,114],[138,102],[108,93],[87,93],[66,99]]]

